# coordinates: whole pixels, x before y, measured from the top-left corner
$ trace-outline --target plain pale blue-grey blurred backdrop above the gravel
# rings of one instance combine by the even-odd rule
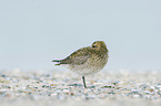
[[[161,70],[161,0],[1,0],[0,70],[54,70],[102,40],[104,70]]]

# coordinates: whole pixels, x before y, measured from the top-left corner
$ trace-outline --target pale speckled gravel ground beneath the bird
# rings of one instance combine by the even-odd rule
[[[161,106],[160,72],[1,71],[0,106]]]

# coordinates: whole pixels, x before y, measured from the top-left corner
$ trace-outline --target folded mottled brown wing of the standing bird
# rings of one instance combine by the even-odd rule
[[[91,57],[91,53],[88,51],[88,49],[83,47],[76,52],[73,52],[70,56],[68,56],[64,60],[61,60],[59,64],[76,64],[81,65],[84,62],[88,61],[89,57]]]

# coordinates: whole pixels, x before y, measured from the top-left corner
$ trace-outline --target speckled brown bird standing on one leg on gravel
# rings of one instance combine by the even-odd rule
[[[79,49],[63,60],[53,60],[56,65],[67,65],[71,71],[80,74],[85,85],[85,75],[101,71],[108,62],[108,49],[103,41],[95,41],[91,46]]]

